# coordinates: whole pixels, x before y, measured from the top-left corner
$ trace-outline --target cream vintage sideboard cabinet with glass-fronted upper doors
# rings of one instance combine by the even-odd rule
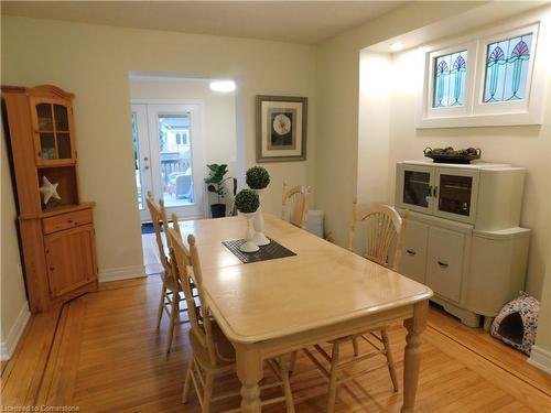
[[[409,210],[400,272],[429,285],[433,301],[477,327],[525,286],[530,230],[519,227],[526,170],[406,161],[396,207]]]

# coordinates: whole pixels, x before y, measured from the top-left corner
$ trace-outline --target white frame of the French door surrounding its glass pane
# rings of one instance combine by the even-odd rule
[[[204,175],[206,171],[205,163],[205,139],[204,139],[204,102],[202,100],[196,99],[187,99],[187,100],[169,100],[169,99],[133,99],[132,111],[138,113],[138,110],[145,110],[147,126],[142,126],[142,130],[147,131],[148,138],[143,138],[140,135],[140,124],[138,124],[138,134],[139,134],[139,145],[140,145],[140,155],[141,160],[145,156],[144,152],[149,151],[149,165],[143,165],[141,167],[141,176],[142,176],[142,196],[145,196],[145,185],[149,184],[150,188],[154,194],[155,199],[162,198],[162,182],[160,173],[155,173],[155,171],[161,171],[161,160],[159,152],[159,139],[156,135],[156,131],[159,130],[159,113],[190,113],[190,129],[191,129],[191,146],[192,146],[192,176],[193,176],[193,187],[194,187],[194,203],[192,205],[183,205],[179,207],[166,207],[166,213],[172,215],[176,213],[179,217],[184,217],[185,219],[197,219],[204,218],[206,216],[207,206],[206,206],[206,196],[204,189]],[[136,109],[134,109],[136,108]],[[143,108],[143,109],[141,109]],[[143,111],[140,111],[143,116]],[[139,121],[139,123],[142,123]],[[150,132],[153,139],[149,138]],[[145,143],[147,141],[148,143]],[[141,146],[147,145],[147,151],[141,151]],[[150,169],[147,169],[149,166]],[[145,171],[144,171],[145,170]],[[147,172],[150,173],[147,173]],[[143,175],[149,175],[149,178],[143,178]],[[141,211],[141,219],[150,220],[149,211],[147,208]]]

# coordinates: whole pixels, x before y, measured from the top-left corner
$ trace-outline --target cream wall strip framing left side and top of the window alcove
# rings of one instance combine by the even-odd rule
[[[357,191],[360,50],[478,8],[475,2],[410,2],[317,45],[316,208],[346,246]],[[367,115],[366,115],[367,116]],[[385,172],[381,172],[385,176]]]

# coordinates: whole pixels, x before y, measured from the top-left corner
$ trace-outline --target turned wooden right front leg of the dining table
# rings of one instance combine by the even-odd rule
[[[403,350],[403,405],[402,413],[413,412],[415,405],[419,367],[421,365],[421,333],[426,326],[429,301],[425,300],[413,305],[413,317],[403,322],[408,329],[406,349]]]

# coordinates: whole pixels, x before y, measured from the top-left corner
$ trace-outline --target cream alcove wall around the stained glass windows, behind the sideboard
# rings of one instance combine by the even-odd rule
[[[534,15],[549,13],[542,10]],[[510,20],[511,23],[515,19]],[[469,35],[477,36],[476,32]],[[432,48],[431,44],[424,45]],[[540,48],[539,53],[549,53]],[[415,129],[423,87],[424,54],[413,50],[393,57],[389,141],[389,184],[393,200],[395,165],[402,160],[423,159],[422,151],[432,148],[480,148],[488,162],[507,162],[527,169],[520,225],[532,230],[526,289],[540,297],[545,273],[549,232],[545,229],[550,194],[545,189],[550,176],[549,141],[551,135],[551,99],[547,99],[544,121],[540,126],[499,128]],[[549,69],[551,78],[551,69]],[[549,95],[549,94],[548,94]]]

